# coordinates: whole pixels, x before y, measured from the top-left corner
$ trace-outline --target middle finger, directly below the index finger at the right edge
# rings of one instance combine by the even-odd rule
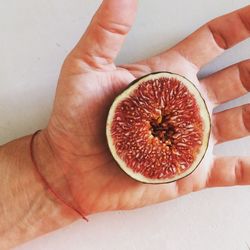
[[[250,60],[221,70],[201,80],[201,84],[215,104],[247,94],[250,91]]]

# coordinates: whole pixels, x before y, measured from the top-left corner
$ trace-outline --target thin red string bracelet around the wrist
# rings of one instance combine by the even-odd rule
[[[50,186],[50,184],[48,183],[48,181],[47,181],[47,180],[45,179],[45,177],[41,174],[41,172],[40,172],[40,170],[39,170],[39,168],[38,168],[38,166],[37,166],[37,164],[36,164],[35,157],[34,157],[34,152],[33,152],[34,139],[35,139],[36,135],[39,134],[40,132],[41,132],[41,130],[36,131],[36,132],[32,135],[31,141],[30,141],[30,155],[31,155],[32,163],[33,163],[33,165],[34,165],[35,168],[36,168],[36,172],[38,173],[39,177],[42,179],[42,181],[44,182],[44,184],[47,186],[47,188],[49,189],[49,191],[50,191],[58,200],[60,200],[60,201],[61,201],[64,205],[66,205],[67,207],[73,209],[76,213],[78,213],[78,214],[82,217],[82,219],[88,221],[88,219],[83,215],[83,213],[82,213],[79,209],[73,207],[71,204],[69,204],[69,203],[67,203],[65,200],[63,200],[62,197],[61,197],[60,195],[58,195],[58,194],[51,188],[51,186]]]

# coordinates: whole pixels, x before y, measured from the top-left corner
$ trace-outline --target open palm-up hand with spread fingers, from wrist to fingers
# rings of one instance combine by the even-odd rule
[[[202,164],[190,176],[170,184],[149,185],[128,177],[113,160],[105,138],[109,107],[126,86],[154,71],[179,73],[202,91],[209,111],[250,90],[250,62],[244,61],[200,81],[200,68],[250,35],[250,6],[219,17],[173,48],[152,58],[116,66],[136,14],[136,0],[105,0],[89,28],[65,60],[53,113],[39,135],[53,155],[58,186],[48,167],[41,171],[63,199],[86,214],[133,209],[206,187],[250,184],[249,157],[215,158],[217,143],[250,134],[250,105],[212,116],[212,138]],[[37,156],[38,162],[42,163]]]

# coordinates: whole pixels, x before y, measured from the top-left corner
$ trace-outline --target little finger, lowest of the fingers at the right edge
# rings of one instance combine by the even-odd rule
[[[250,184],[250,157],[218,157],[207,180],[207,187]]]

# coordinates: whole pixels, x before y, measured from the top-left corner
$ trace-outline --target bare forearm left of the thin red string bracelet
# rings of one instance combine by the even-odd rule
[[[39,178],[31,161],[30,140],[27,136],[0,147],[0,249],[31,240],[76,219]],[[36,152],[40,157],[43,153],[46,154]]]

